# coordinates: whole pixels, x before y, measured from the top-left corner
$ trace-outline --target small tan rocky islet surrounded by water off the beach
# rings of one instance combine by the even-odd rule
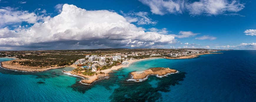
[[[143,72],[132,72],[133,79],[143,79],[146,78],[147,75],[166,75],[168,73],[176,73],[177,70],[170,69],[170,68],[163,68],[163,67],[157,67],[157,68],[150,68]]]

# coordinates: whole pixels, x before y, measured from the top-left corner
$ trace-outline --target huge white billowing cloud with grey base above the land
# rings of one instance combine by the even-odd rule
[[[63,43],[108,47],[145,47],[174,41],[173,35],[145,32],[143,28],[108,10],[88,11],[64,4],[59,15],[33,26],[0,29],[1,46],[46,46]],[[9,34],[9,35],[8,35]],[[10,35],[15,36],[10,36]],[[33,47],[33,46],[32,46]]]

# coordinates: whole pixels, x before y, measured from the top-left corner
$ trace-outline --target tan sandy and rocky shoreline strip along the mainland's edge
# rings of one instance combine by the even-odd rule
[[[204,55],[204,54],[222,54],[222,53],[202,53],[202,54],[193,54],[193,55],[182,56],[182,57],[177,57],[177,58],[169,58],[169,57],[167,57],[166,59],[192,59],[192,58],[198,57],[199,55]],[[13,58],[13,57],[6,57],[6,58]],[[163,57],[150,57],[150,58],[145,58],[145,59],[132,59],[132,60],[128,60],[129,64],[127,66],[119,65],[119,66],[112,66],[109,69],[104,69],[104,70],[101,70],[101,71],[98,70],[96,72],[96,74],[93,75],[93,76],[87,76],[87,75],[83,75],[81,73],[80,74],[79,73],[73,73],[72,71],[63,71],[63,72],[64,73],[69,73],[71,75],[77,75],[77,76],[83,77],[85,79],[81,80],[80,82],[90,85],[95,80],[98,80],[98,79],[100,79],[102,77],[109,76],[108,73],[112,73],[113,70],[118,70],[120,68],[129,67],[129,65],[133,64],[134,62],[142,61],[142,60],[147,60],[147,59],[161,59],[161,58],[163,58]],[[17,59],[17,58],[13,58],[13,59],[14,60],[26,60],[26,59]],[[67,67],[67,66],[56,66],[56,67],[21,66],[21,65],[18,65],[18,64],[11,63],[11,61],[14,61],[14,60],[1,62],[1,67],[6,68],[6,69],[11,69],[11,70],[27,71],[27,72],[31,72],[31,71],[46,71],[46,70],[50,70],[50,69]],[[74,66],[74,65],[70,65],[68,67],[77,68],[77,66]],[[103,72],[103,73],[101,73],[101,72]]]

